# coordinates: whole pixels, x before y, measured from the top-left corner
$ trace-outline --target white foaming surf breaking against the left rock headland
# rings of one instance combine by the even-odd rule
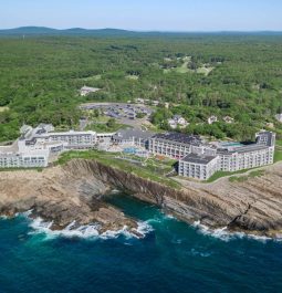
[[[125,237],[126,239],[130,238],[144,238],[147,233],[153,231],[153,228],[146,222],[138,222],[136,229],[136,234],[128,230],[127,226],[124,226],[123,229],[117,231],[107,230],[101,233],[101,226],[98,223],[92,223],[86,226],[77,227],[76,222],[73,221],[67,227],[62,230],[51,230],[53,222],[43,221],[41,218],[31,219],[30,227],[33,231],[30,234],[40,234],[44,233],[45,239],[54,239],[58,237],[63,238],[82,238],[82,239],[116,239],[119,236]],[[140,237],[138,237],[138,236]]]

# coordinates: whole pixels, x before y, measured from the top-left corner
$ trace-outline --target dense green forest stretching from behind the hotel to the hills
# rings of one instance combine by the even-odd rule
[[[75,128],[81,103],[135,98],[160,102],[152,117],[160,129],[180,114],[189,122],[181,132],[247,140],[270,128],[282,137],[281,49],[281,35],[0,38],[0,142],[22,124]],[[83,85],[101,91],[82,97]],[[208,125],[210,115],[219,122]]]

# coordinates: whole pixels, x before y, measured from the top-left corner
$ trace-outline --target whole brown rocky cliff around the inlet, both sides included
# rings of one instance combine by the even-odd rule
[[[0,212],[33,209],[34,214],[63,228],[100,222],[102,229],[136,228],[114,207],[103,202],[111,189],[161,207],[188,221],[212,228],[228,227],[274,236],[282,230],[282,164],[267,168],[265,175],[244,182],[187,184],[174,190],[95,160],[75,159],[63,167],[36,171],[0,174]]]

